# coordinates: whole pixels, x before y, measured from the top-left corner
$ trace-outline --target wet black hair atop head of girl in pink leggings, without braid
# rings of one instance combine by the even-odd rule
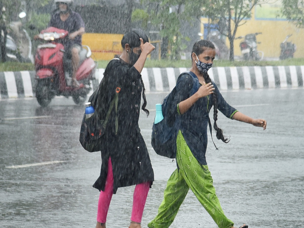
[[[140,46],[140,38],[143,39],[143,43],[149,41],[146,33],[141,29],[132,29],[129,32],[126,32],[123,35],[123,39],[121,40],[121,46],[125,48],[125,45],[128,43],[130,48],[139,47]]]

